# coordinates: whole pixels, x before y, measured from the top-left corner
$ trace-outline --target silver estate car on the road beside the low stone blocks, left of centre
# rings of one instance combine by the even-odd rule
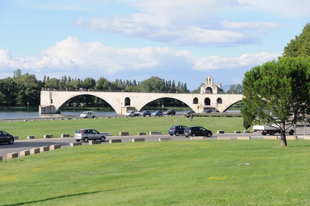
[[[100,133],[95,129],[77,129],[74,133],[74,139],[77,142],[82,140],[85,143],[89,140],[101,140],[101,142],[104,142],[107,136],[110,136],[108,132]]]

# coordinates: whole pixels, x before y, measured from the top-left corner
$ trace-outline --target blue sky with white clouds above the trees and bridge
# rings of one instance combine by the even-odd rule
[[[0,0],[0,77],[241,84],[302,32],[309,0]]]

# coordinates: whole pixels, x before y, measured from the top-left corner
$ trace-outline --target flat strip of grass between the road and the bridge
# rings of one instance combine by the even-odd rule
[[[174,122],[176,119],[177,122]],[[245,130],[242,117],[194,117],[193,122],[187,122],[184,116],[0,122],[2,130],[18,136],[19,139],[26,139],[27,136],[43,138],[46,134],[52,134],[53,137],[70,134],[73,137],[74,132],[79,128],[93,128],[99,132],[110,132],[112,136],[119,135],[121,131],[129,132],[129,135],[137,135],[138,132],[149,134],[150,131],[161,131],[162,134],[168,134],[172,125],[202,126],[214,133],[217,130],[225,132]]]

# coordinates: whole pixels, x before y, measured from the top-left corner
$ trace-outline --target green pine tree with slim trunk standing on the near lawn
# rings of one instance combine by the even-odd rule
[[[281,146],[286,146],[285,129],[306,114],[310,102],[310,57],[279,57],[245,73],[245,125],[259,117],[268,124],[279,124]],[[272,115],[271,115],[272,114]],[[293,116],[290,125],[286,122]]]

